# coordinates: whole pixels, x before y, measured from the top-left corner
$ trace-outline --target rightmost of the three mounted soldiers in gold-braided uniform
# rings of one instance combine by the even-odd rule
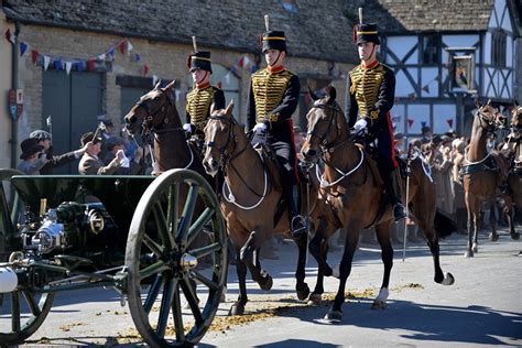
[[[405,218],[405,211],[390,118],[390,109],[395,98],[395,75],[388,66],[377,61],[377,46],[380,44],[377,24],[356,25],[355,39],[361,64],[350,72],[348,123],[355,131],[368,129],[370,139],[378,142],[379,170],[396,221]]]

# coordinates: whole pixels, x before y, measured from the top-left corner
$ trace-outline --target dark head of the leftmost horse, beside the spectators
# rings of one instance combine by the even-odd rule
[[[126,127],[132,134],[142,128],[144,130],[160,129],[171,120],[167,117],[168,107],[175,109],[174,83],[170,83],[165,88],[161,88],[161,80],[154,89],[142,96],[140,100],[126,115]]]

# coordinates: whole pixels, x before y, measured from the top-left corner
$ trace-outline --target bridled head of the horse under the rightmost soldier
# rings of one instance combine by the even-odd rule
[[[309,95],[314,105],[306,115],[308,133],[301,149],[305,162],[317,162],[322,149],[328,149],[340,135],[341,123],[339,117],[342,117],[337,102],[335,102],[336,90],[330,87],[328,95],[318,98],[312,90]]]

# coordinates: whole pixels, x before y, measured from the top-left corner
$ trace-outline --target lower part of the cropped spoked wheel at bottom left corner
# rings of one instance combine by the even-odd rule
[[[42,325],[53,305],[54,293],[15,290],[0,294],[0,342],[18,345]]]

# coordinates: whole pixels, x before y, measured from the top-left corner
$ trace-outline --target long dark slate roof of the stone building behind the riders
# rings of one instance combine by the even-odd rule
[[[297,0],[297,13],[282,0],[2,0],[6,15],[22,23],[69,28],[259,52],[264,14],[271,29],[286,32],[289,54],[322,61],[357,62],[354,22],[345,0]],[[23,29],[22,29],[23,30]]]

